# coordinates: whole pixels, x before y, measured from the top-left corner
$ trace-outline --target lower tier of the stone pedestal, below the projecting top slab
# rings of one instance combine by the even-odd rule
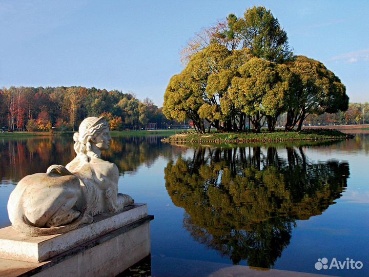
[[[152,219],[147,215],[45,262],[0,258],[0,276],[116,276],[150,254]]]

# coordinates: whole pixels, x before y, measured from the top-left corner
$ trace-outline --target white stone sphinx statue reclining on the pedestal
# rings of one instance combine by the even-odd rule
[[[118,193],[117,166],[100,157],[111,141],[104,118],[86,118],[73,140],[76,157],[69,164],[25,176],[10,194],[9,219],[25,236],[64,233],[134,203]]]

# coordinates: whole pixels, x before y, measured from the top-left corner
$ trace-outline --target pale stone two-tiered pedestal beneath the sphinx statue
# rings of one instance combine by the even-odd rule
[[[0,229],[0,276],[115,276],[150,254],[152,219],[146,204],[135,204],[64,234]]]

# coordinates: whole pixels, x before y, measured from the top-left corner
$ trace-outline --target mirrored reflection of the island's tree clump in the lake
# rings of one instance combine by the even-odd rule
[[[284,150],[283,150],[284,151]],[[312,163],[302,148],[198,148],[165,169],[173,203],[186,210],[193,238],[234,264],[270,268],[289,245],[296,220],[321,214],[341,196],[347,163]]]

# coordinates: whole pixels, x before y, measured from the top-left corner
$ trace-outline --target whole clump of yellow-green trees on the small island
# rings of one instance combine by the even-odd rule
[[[189,118],[199,133],[243,131],[247,122],[255,132],[265,122],[274,131],[284,112],[286,130],[299,130],[310,114],[348,107],[340,79],[321,62],[294,56],[286,32],[264,7],[240,18],[230,14],[185,49],[187,66],[171,78],[163,113]]]

